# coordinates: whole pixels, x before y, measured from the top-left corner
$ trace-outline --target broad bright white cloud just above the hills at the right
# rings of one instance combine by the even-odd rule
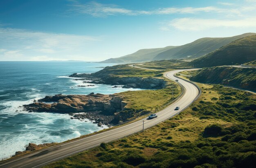
[[[182,31],[201,31],[216,27],[256,28],[256,17],[240,20],[181,18],[172,20],[169,23],[169,26],[177,28]]]

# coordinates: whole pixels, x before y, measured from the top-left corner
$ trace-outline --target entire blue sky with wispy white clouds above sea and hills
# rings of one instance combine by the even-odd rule
[[[0,0],[0,61],[103,61],[256,33],[256,0]]]

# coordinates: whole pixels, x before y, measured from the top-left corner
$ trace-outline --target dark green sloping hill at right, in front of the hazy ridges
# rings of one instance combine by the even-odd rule
[[[235,65],[256,60],[256,35],[237,39],[203,57],[186,63],[195,67]]]

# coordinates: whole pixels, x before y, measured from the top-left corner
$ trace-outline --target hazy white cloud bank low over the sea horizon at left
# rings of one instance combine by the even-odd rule
[[[84,53],[100,37],[28,31],[14,28],[0,28],[0,60],[76,59],[72,55]],[[44,55],[44,57],[35,56]],[[68,58],[70,57],[70,58]],[[21,59],[22,61],[22,59]]]

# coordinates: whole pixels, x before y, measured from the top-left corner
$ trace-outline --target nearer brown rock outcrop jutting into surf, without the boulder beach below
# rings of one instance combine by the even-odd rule
[[[52,103],[53,102],[53,103]],[[72,113],[85,111],[103,111],[114,113],[122,110],[122,99],[114,95],[55,95],[45,96],[38,102],[23,105],[28,111]]]

